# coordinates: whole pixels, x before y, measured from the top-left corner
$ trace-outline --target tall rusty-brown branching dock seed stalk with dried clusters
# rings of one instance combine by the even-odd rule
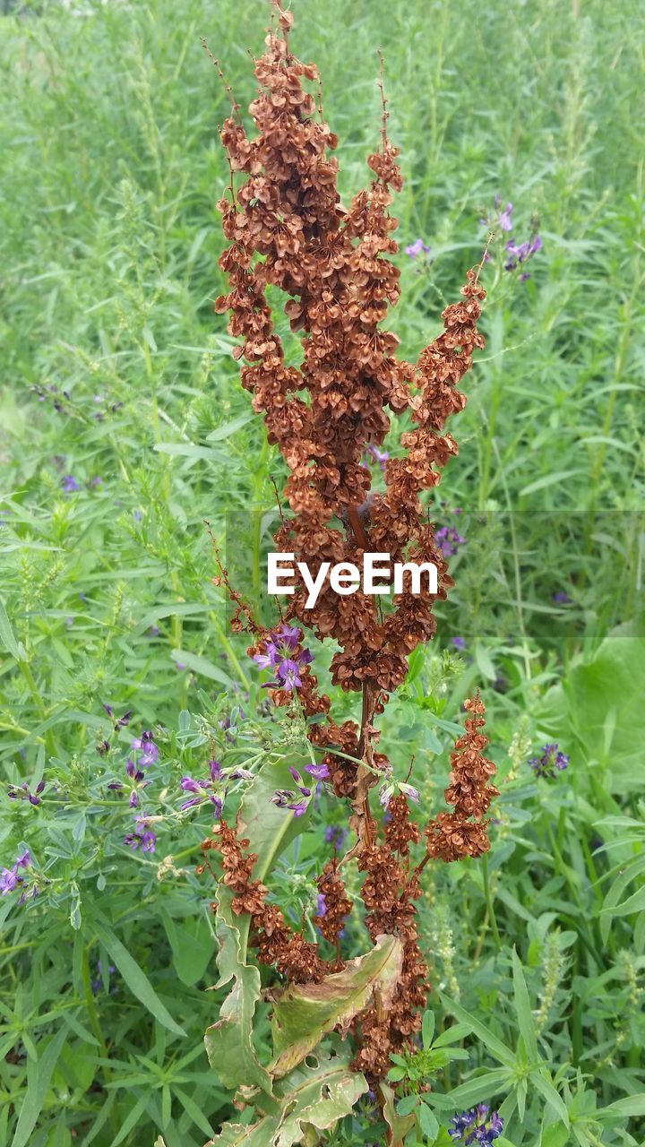
[[[484,345],[476,323],[485,292],[480,265],[468,271],[461,301],[444,310],[443,330],[419,360],[396,357],[398,338],[382,322],[401,292],[399,271],[390,258],[398,250],[393,237],[397,220],[389,208],[403,180],[398,149],[388,136],[384,95],[380,148],[367,158],[372,181],[344,208],[337,162],[329,155],[337,140],[303,83],[317,84],[317,69],[292,54],[292,14],[277,0],[274,9],[277,29],[255,64],[259,92],[249,110],[256,134],[247,134],[232,94],[233,111],[222,128],[231,186],[219,203],[230,242],[220,267],[230,289],[217,299],[216,311],[230,314],[228,329],[241,340],[234,354],[244,360],[242,385],[252,393],[269,440],[289,469],[285,497],[290,514],[281,517],[277,547],[294,553],[312,576],[325,561],[360,565],[365,552],[388,553],[393,562],[433,562],[438,585],[436,594],[404,590],[387,606],[360,590],[339,596],[327,585],[305,610],[306,590],[296,580],[277,634],[254,619],[222,570],[236,604],[233,629],[249,632],[249,654],[275,670],[270,696],[281,705],[297,692],[304,717],[314,718],[308,735],[321,754],[320,775],[349,804],[355,843],[343,857],[334,852],[318,877],[314,923],[335,958],[322,959],[318,944],[305,941],[266,903],[266,887],[252,880],[248,841],[226,821],[216,826],[204,849],[222,856],[224,882],[235,894],[233,911],[250,915],[258,960],[295,983],[320,982],[343,967],[340,936],[351,903],[341,873],[356,859],[365,873],[360,896],[372,941],[396,936],[403,945],[402,973],[388,1008],[376,998],[351,1025],[353,1066],[378,1083],[390,1053],[419,1030],[429,990],[418,943],[421,872],[430,859],[452,861],[487,851],[485,813],[497,793],[490,783],[495,768],[483,756],[484,705],[477,695],[466,702],[466,731],[451,758],[445,794],[451,812],[440,812],[422,833],[410,817],[409,797],[415,790],[395,782],[380,833],[370,801],[371,789],[391,779],[387,757],[376,750],[375,720],[403,684],[410,654],[435,633],[434,601],[445,599],[453,585],[420,494],[440,482],[441,468],[457,454],[445,423],[464,408],[466,398],[457,385],[475,349]],[[285,360],[267,288],[285,292],[292,329],[302,331],[300,367]],[[363,460],[382,445],[391,415],[406,415],[412,429],[401,435],[399,457],[383,463],[379,453],[384,490],[376,493]],[[333,719],[331,700],[319,690],[305,654],[304,624],[319,640],[329,638],[337,646],[332,679],[360,694],[359,720],[339,725]],[[296,812],[286,799],[285,810],[285,816]],[[414,865],[410,846],[423,840],[425,852]]]

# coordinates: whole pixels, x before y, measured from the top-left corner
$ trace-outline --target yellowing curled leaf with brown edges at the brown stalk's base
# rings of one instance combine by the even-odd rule
[[[379,936],[372,951],[350,960],[343,972],[325,976],[319,984],[292,984],[272,992],[277,1053],[272,1074],[279,1078],[290,1071],[333,1028],[340,1027],[345,1032],[355,1015],[375,996],[387,1012],[401,977],[402,961],[401,941]]]

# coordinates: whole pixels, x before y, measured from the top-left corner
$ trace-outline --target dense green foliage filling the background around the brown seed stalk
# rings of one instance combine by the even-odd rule
[[[449,1144],[452,1115],[487,1101],[506,1117],[498,1142],[636,1145],[639,6],[294,9],[347,196],[378,139],[384,53],[406,177],[393,317],[406,357],[437,333],[479,262],[496,195],[513,202],[518,241],[535,216],[543,241],[526,281],[499,252],[484,268],[487,349],[433,504],[437,523],[466,538],[457,587],[382,721],[399,779],[414,756],[427,819],[443,806],[461,702],[480,685],[502,789],[484,863],[425,872],[434,1015],[391,1077],[399,1117],[417,1116],[406,1142]],[[38,889],[23,904],[20,887],[8,891],[0,906],[0,1141],[14,1147],[142,1147],[157,1134],[200,1147],[232,1115],[203,1048],[225,994],[204,993],[217,980],[213,885],[194,874],[211,806],[180,812],[180,780],[205,775],[211,757],[255,768],[298,746],[266,711],[211,580],[204,520],[257,596],[281,470],[212,313],[226,96],[200,36],[246,104],[247,48],[259,50],[265,21],[259,0],[78,0],[0,17],[0,147],[11,157],[0,177],[0,861],[11,869],[28,849],[22,874]],[[432,263],[404,253],[418,236]],[[328,655],[313,651],[324,678]],[[349,715],[356,699],[345,703]],[[125,762],[145,729],[160,756],[132,810]],[[529,758],[553,741],[569,766],[536,778]],[[20,798],[16,787],[36,794],[41,781],[39,804]],[[314,911],[329,807],[318,801],[274,874],[294,921]],[[158,818],[154,853],[124,844],[134,813]],[[366,951],[359,929],[345,944],[348,955]],[[458,1048],[452,1019],[464,1024]],[[374,1119],[363,1099],[324,1141],[383,1141]]]

